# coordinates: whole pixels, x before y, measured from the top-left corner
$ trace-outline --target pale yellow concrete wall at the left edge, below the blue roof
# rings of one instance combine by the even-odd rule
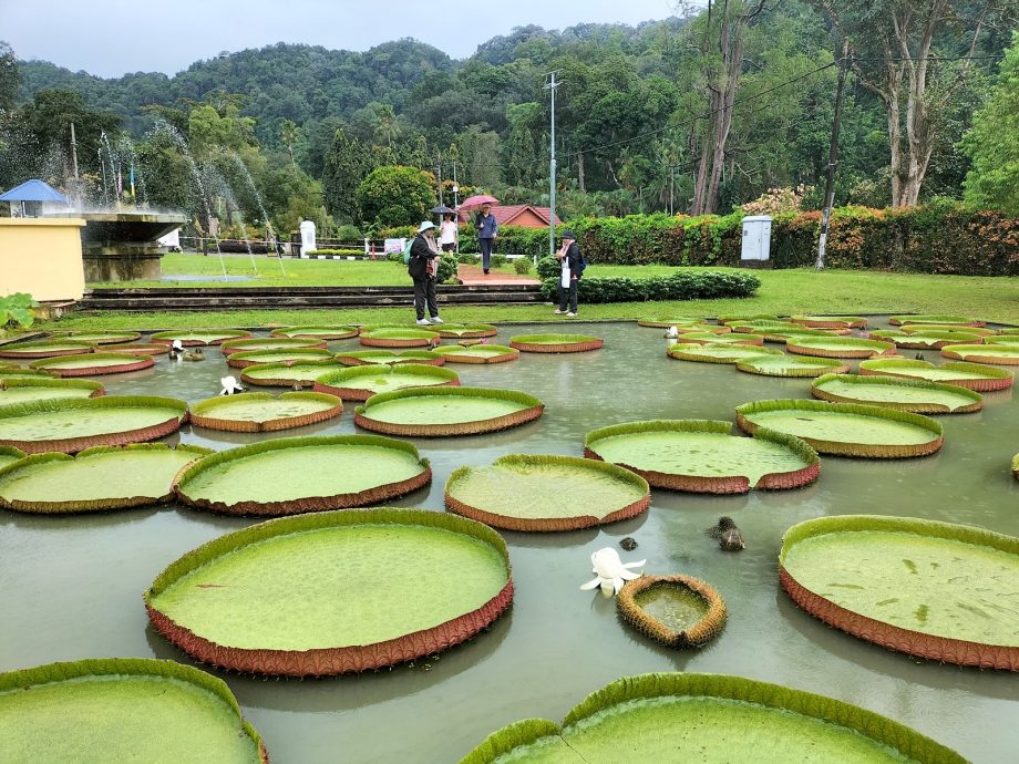
[[[80,300],[85,290],[81,218],[0,218],[0,295]]]

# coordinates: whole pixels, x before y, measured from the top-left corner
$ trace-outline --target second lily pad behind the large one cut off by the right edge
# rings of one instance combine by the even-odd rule
[[[966,388],[894,376],[825,374],[811,388],[814,398],[835,403],[867,403],[917,414],[968,414],[984,407],[984,396]]]

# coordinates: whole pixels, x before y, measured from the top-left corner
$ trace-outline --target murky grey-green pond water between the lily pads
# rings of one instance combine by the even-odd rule
[[[579,456],[584,435],[596,427],[644,419],[732,421],[733,409],[749,401],[810,398],[809,379],[670,360],[663,330],[635,323],[502,327],[492,342],[557,330],[600,337],[605,348],[449,366],[465,385],[537,395],[546,413],[504,433],[409,438],[431,460],[434,481],[392,505],[441,510],[443,486],[456,467],[488,465],[510,453]],[[357,340],[330,343],[333,350],[356,347]],[[936,351],[923,354],[938,361]],[[204,363],[178,364],[163,355],[153,369],[100,379],[111,394],[196,403],[218,393],[219,378],[233,373],[218,351],[207,355]],[[1009,472],[1019,452],[1019,404],[1012,398],[1011,391],[988,393],[981,412],[940,417],[945,446],[934,456],[822,456],[820,479],[799,491],[729,497],[655,491],[648,513],[606,528],[504,531],[516,586],[513,607],[486,632],[438,659],[303,681],[210,671],[237,695],[272,761],[284,763],[456,762],[505,724],[525,717],[559,722],[587,693],[650,671],[788,684],[886,714],[974,762],[1019,761],[1019,725],[1007,723],[1019,719],[1016,674],[940,665],[835,631],[781,590],[776,561],[783,531],[823,515],[928,517],[1019,535],[1019,483]],[[279,435],[352,432],[348,403],[340,420]],[[222,450],[264,437],[188,426],[167,441]],[[706,535],[720,515],[735,519],[745,550],[722,551]],[[148,624],[142,592],[185,551],[255,522],[174,505],[79,517],[0,510],[0,671],[99,657],[192,663]],[[687,574],[719,590],[729,620],[718,639],[700,651],[659,647],[624,627],[613,600],[578,589],[591,577],[590,554],[619,549],[625,536],[640,546],[620,551],[624,561],[647,558],[649,574]]]

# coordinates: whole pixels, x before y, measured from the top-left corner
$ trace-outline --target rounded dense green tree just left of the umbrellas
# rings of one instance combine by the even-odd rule
[[[364,223],[406,226],[429,217],[435,206],[435,176],[416,167],[375,167],[358,186],[358,209]]]

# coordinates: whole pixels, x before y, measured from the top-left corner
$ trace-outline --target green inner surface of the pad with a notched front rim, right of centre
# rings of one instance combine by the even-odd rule
[[[756,485],[763,475],[802,469],[806,463],[789,448],[755,437],[719,433],[651,432],[595,441],[606,462],[671,475],[742,475]]]

